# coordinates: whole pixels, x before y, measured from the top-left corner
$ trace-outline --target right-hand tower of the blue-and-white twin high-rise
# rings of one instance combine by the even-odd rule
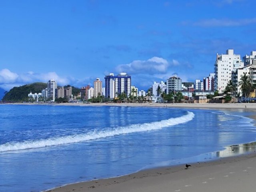
[[[122,72],[115,76],[115,93],[125,93],[127,96],[131,94],[131,76]]]

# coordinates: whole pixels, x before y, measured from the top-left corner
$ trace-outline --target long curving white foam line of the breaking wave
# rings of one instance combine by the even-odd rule
[[[168,126],[174,126],[177,124],[186,123],[194,118],[194,113],[188,112],[188,114],[177,117],[170,118],[167,120],[161,120],[151,123],[134,124],[130,126],[118,127],[112,130],[94,130],[86,134],[74,134],[61,137],[53,137],[41,140],[27,140],[24,142],[8,142],[6,144],[0,145],[0,152],[7,152],[13,150],[25,150],[32,148],[43,148],[47,146],[55,146],[62,144],[71,144],[77,142],[84,142],[88,140],[95,140],[99,138],[106,138],[110,136],[116,136],[121,134],[129,134],[134,132],[150,131],[165,128]]]

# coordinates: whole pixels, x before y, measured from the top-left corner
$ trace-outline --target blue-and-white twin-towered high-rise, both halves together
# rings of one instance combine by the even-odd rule
[[[116,76],[110,73],[108,76],[105,76],[105,97],[113,99],[121,93],[130,96],[131,76],[126,73],[120,73]]]

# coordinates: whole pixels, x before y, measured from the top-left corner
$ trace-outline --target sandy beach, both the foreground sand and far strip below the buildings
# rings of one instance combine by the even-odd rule
[[[256,104],[59,104],[96,106],[151,106],[220,110],[256,110]],[[254,117],[251,117],[254,118]],[[190,162],[188,162],[190,164]],[[143,170],[116,178],[79,182],[47,192],[251,192],[256,178],[255,147],[249,154],[192,163],[186,169],[170,166]]]

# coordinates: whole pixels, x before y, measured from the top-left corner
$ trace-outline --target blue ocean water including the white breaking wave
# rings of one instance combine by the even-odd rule
[[[0,105],[0,191],[38,192],[210,160],[256,141],[254,112]]]

